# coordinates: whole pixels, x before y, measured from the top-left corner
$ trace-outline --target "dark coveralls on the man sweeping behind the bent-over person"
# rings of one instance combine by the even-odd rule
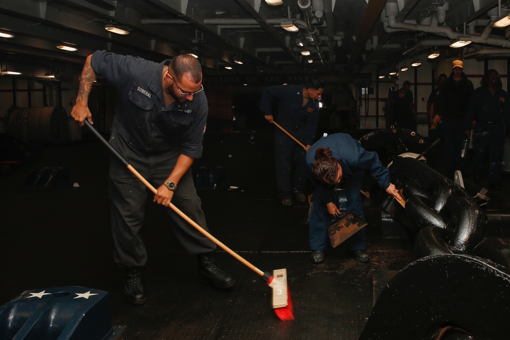
[[[309,99],[303,106],[304,85],[270,86],[262,92],[260,110],[272,115],[273,99],[279,99],[274,120],[303,145],[312,145],[319,121],[319,100]],[[303,192],[308,178],[305,151],[279,128],[274,131],[276,186],[280,199]],[[294,172],[292,174],[292,164]]]

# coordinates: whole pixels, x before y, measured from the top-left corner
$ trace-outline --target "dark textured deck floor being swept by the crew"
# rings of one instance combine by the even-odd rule
[[[148,251],[143,270],[147,303],[126,304],[123,271],[112,260],[109,155],[89,135],[80,142],[43,146],[37,162],[11,167],[0,176],[0,305],[26,290],[83,286],[110,293],[119,339],[358,339],[374,294],[416,259],[413,241],[383,233],[377,206],[369,207],[369,263],[356,262],[340,246],[323,264],[312,264],[308,205],[279,202],[267,135],[206,138],[204,156],[195,166],[225,167],[227,179],[224,187],[200,190],[199,196],[217,239],[263,271],[287,269],[294,321],[279,321],[265,281],[222,250],[214,257],[235,276],[236,285],[218,291],[200,283],[195,258],[176,242],[151,198],[142,230]],[[27,176],[44,167],[70,169],[71,182],[79,187],[20,189]],[[473,195],[484,184],[475,186],[465,178]],[[509,211],[507,187],[505,179],[501,191],[489,193],[488,208]]]

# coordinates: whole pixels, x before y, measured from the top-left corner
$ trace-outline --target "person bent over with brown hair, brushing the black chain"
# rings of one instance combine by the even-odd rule
[[[390,183],[390,170],[382,165],[377,153],[366,151],[358,141],[347,134],[333,134],[318,140],[307,151],[307,164],[314,177],[315,189],[309,234],[313,263],[324,261],[324,252],[331,247],[328,225],[332,217],[340,214],[338,206],[333,202],[334,185],[343,182],[347,211],[362,219],[365,215],[360,193],[365,171],[370,171],[379,186],[388,194],[398,200],[402,199],[395,185]],[[361,263],[369,260],[365,234],[363,228],[345,241],[348,254]]]

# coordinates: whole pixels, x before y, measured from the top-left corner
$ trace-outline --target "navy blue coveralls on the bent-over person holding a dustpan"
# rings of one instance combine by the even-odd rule
[[[315,151],[319,147],[330,149],[333,158],[342,167],[342,182],[347,196],[347,211],[365,219],[360,197],[365,171],[375,178],[379,186],[386,190],[390,186],[390,170],[382,165],[377,153],[366,151],[361,144],[347,134],[333,134],[321,138],[307,151],[307,165],[312,169]],[[327,250],[331,248],[327,227],[333,218],[326,204],[333,201],[334,188],[327,187],[314,179],[313,207],[310,217],[310,249]],[[345,241],[347,250],[365,250],[367,247],[365,228],[356,232]]]

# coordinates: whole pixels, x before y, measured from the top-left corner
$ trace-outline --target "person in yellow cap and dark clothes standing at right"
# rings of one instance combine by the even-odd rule
[[[473,90],[473,83],[464,74],[462,60],[453,61],[452,72],[434,103],[432,118],[432,123],[441,121],[443,125],[444,175],[450,179],[454,178],[455,170],[461,170],[463,174],[467,170],[467,161],[461,157],[461,151],[466,136],[466,112]]]

